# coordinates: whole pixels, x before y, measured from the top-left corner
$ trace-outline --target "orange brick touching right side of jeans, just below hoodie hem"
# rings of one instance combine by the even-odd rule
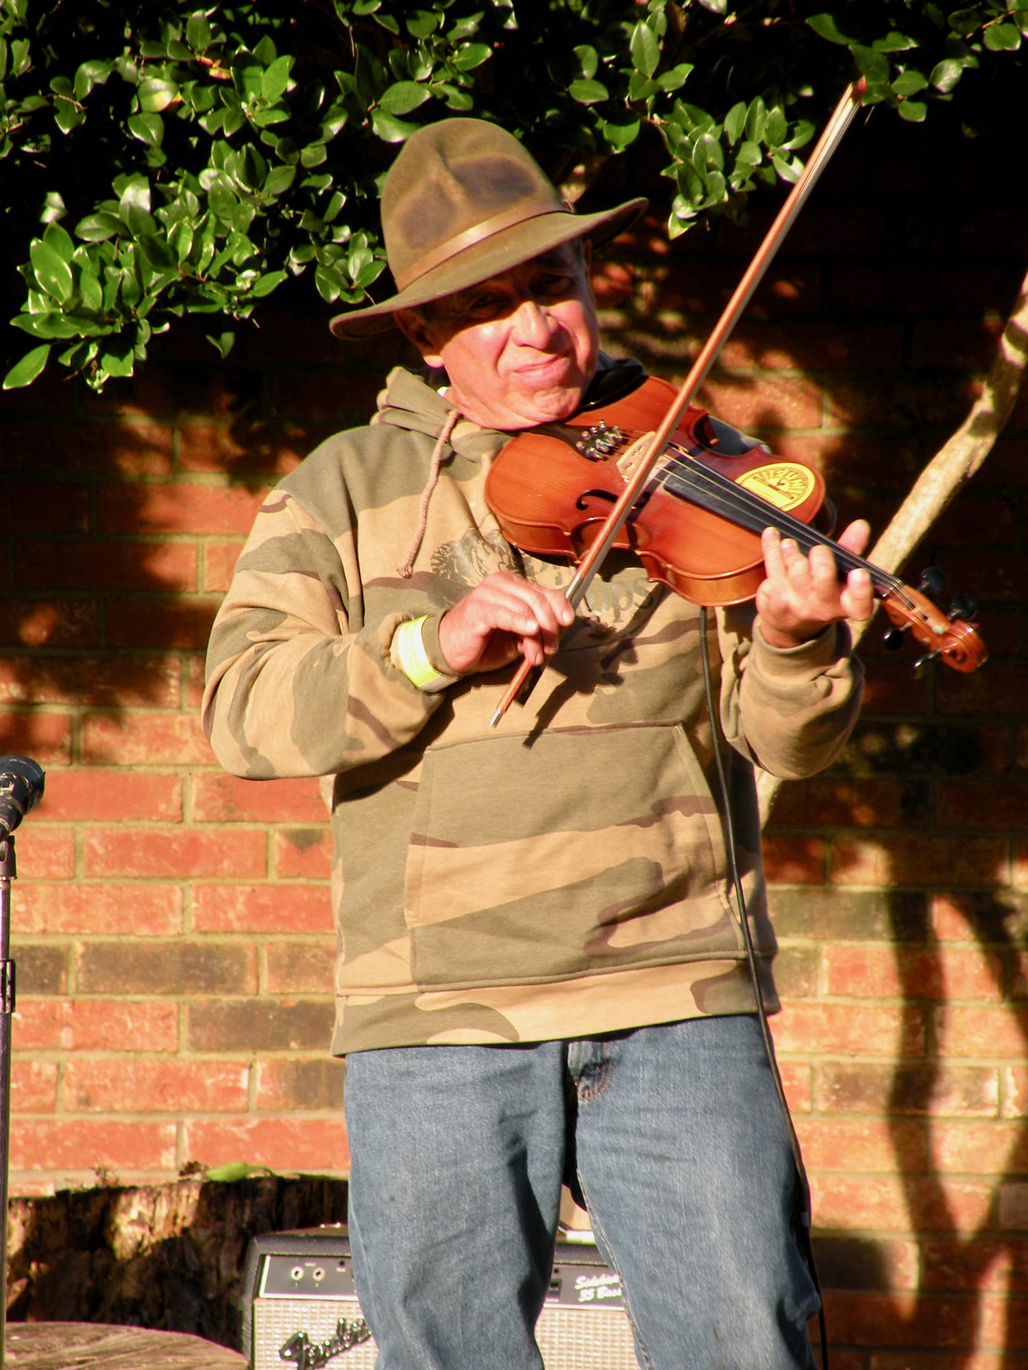
[[[925,1017],[920,1008],[799,1001],[790,1003],[772,1029],[783,1052],[916,1058],[925,1051]]]

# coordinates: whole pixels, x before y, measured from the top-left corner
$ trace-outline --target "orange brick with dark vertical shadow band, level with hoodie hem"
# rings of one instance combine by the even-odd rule
[[[827,945],[824,967],[828,995],[983,1003],[1003,997],[1003,963],[995,952]]]

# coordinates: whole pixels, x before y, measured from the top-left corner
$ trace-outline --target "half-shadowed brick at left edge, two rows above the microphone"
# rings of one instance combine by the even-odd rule
[[[175,708],[178,662],[167,658],[78,656],[0,659],[0,706],[85,704],[99,708]]]

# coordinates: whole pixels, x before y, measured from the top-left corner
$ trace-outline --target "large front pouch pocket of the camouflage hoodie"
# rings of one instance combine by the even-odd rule
[[[721,823],[676,725],[425,754],[406,873],[414,981],[526,984],[733,955]]]

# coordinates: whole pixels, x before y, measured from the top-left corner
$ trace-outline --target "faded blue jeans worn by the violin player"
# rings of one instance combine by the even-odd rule
[[[807,1370],[817,1293],[757,1019],[347,1062],[350,1230],[378,1370],[540,1370],[577,1177],[646,1370]]]

